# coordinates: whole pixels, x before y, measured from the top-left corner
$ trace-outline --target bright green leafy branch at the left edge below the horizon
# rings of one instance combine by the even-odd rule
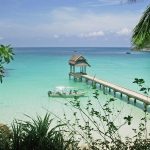
[[[4,77],[4,64],[10,63],[13,60],[13,49],[10,45],[0,45],[0,82],[2,83],[2,78]]]

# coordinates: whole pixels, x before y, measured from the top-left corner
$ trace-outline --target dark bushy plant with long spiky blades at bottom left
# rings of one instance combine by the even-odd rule
[[[66,141],[60,130],[63,124],[52,127],[50,114],[29,118],[31,121],[13,122],[11,150],[66,150],[69,147],[71,140]]]

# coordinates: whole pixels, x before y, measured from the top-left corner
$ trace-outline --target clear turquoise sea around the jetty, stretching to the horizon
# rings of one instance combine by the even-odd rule
[[[24,119],[24,114],[44,115],[46,109],[62,115],[67,111],[65,99],[48,98],[47,92],[56,86],[71,86],[84,89],[92,99],[92,89],[84,82],[69,80],[68,60],[73,54],[84,55],[91,67],[88,74],[117,85],[138,91],[132,82],[135,77],[143,78],[150,86],[150,53],[133,52],[129,48],[102,47],[32,47],[14,48],[14,61],[6,65],[6,77],[0,84],[0,122],[10,123],[14,118]],[[100,91],[103,103],[112,96]],[[81,98],[84,103],[86,98]],[[143,115],[142,103],[134,106],[127,100],[117,99],[117,108],[131,113],[135,122]],[[148,108],[150,112],[150,107]],[[125,129],[126,130],[126,129]]]

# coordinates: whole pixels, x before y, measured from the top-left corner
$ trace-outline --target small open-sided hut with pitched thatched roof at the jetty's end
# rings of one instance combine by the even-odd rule
[[[73,55],[69,60],[70,73],[75,73],[75,67],[80,67],[80,73],[86,74],[86,67],[90,64],[82,55]]]

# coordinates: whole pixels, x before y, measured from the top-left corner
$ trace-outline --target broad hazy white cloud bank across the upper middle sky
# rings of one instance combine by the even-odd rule
[[[45,29],[64,35],[79,35],[99,30],[117,32],[124,26],[132,29],[138,21],[137,15],[133,13],[101,14],[82,12],[75,8],[56,9],[51,13],[51,18],[52,22],[45,24]]]

